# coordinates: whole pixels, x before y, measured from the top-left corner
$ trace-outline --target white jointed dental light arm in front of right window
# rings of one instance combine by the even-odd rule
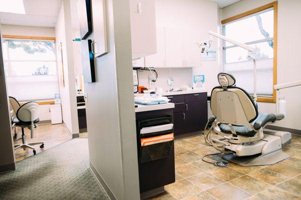
[[[211,42],[212,42],[212,36],[215,36],[215,37],[218,37],[220,39],[223,39],[225,41],[228,41],[234,45],[237,45],[239,47],[242,47],[246,50],[248,50],[248,57],[251,57],[253,59],[253,64],[254,64],[254,95],[253,95],[253,98],[254,98],[254,101],[256,102],[257,100],[257,94],[256,94],[256,58],[252,55],[252,52],[254,51],[255,48],[253,48],[252,46],[249,46],[247,44],[244,44],[242,42],[239,42],[239,41],[235,41],[234,39],[231,39],[231,38],[228,38],[224,35],[221,35],[221,34],[218,34],[216,32],[212,32],[212,31],[209,31],[208,32],[209,35],[210,35],[210,40],[209,40],[209,48],[211,46]],[[200,48],[202,48],[201,52],[206,52],[205,48],[207,47],[207,43],[206,41],[203,41],[202,43],[199,43],[197,42],[198,46]]]

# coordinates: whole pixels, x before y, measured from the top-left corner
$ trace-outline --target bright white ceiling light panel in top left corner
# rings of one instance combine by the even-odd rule
[[[25,14],[23,0],[0,0],[0,12]]]

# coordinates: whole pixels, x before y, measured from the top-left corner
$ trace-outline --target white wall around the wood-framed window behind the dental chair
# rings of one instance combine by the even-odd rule
[[[221,11],[221,20],[265,5],[274,0],[241,0]],[[278,0],[277,83],[300,79],[301,74],[301,0]],[[301,129],[301,86],[283,89],[286,117],[275,125]],[[259,112],[275,112],[275,103],[258,102]]]

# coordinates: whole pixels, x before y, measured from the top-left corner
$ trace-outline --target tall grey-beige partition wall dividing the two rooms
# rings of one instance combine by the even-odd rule
[[[84,85],[91,166],[118,200],[139,199],[129,18],[129,0],[106,0],[108,53]]]

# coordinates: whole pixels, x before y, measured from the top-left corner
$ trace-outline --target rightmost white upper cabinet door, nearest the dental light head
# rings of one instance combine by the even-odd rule
[[[184,66],[201,66],[201,49],[196,42],[200,42],[200,31],[187,30],[184,32]]]

